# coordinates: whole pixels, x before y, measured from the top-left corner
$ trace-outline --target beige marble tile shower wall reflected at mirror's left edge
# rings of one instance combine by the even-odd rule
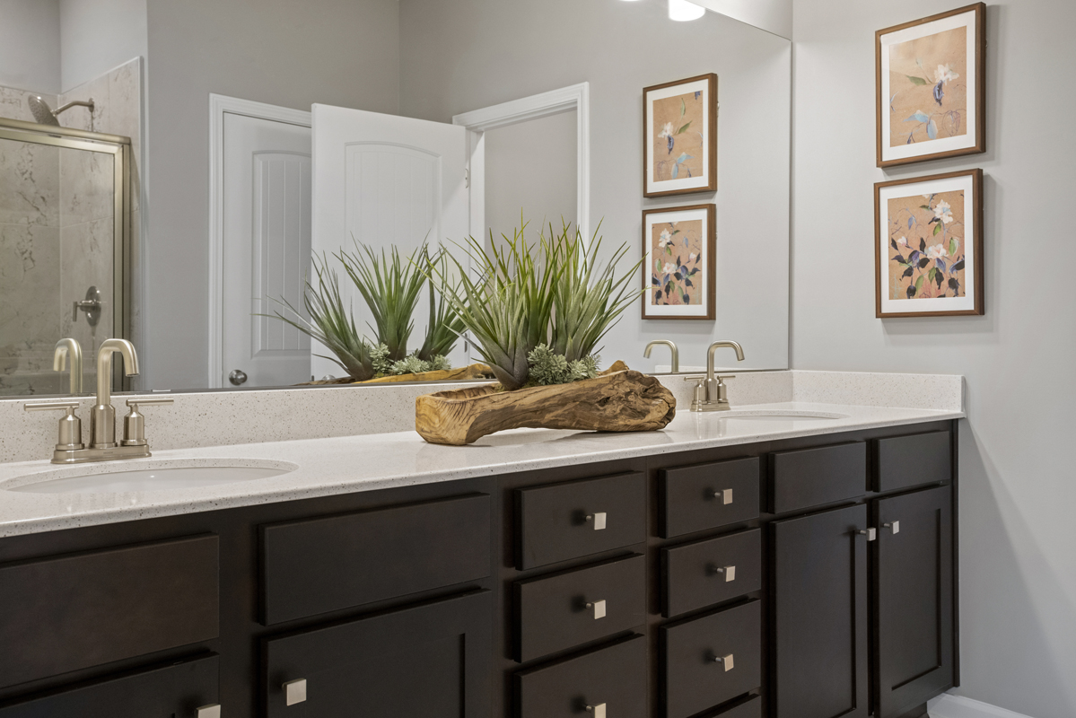
[[[42,96],[54,109],[93,98],[93,113],[73,108],[60,115],[60,124],[131,138],[127,220],[134,297],[140,292],[141,84],[141,60],[136,58],[59,96]],[[0,87],[0,115],[32,121],[29,95]],[[74,337],[82,344],[87,357],[84,386],[93,389],[89,358],[101,341],[114,336],[112,192],[111,155],[25,142],[0,144],[0,395],[66,392],[66,379],[52,371],[53,347],[60,337]],[[39,215],[17,211],[27,203],[25,197],[37,198],[31,203],[44,208]],[[73,302],[91,285],[101,290],[103,301],[97,326],[87,323],[85,313],[73,311]],[[131,326],[139,326],[137,315]],[[137,334],[131,339],[139,346]]]

